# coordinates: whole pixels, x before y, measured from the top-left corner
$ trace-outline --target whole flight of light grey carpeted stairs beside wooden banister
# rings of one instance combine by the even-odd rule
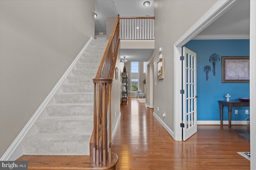
[[[54,94],[55,104],[46,106],[47,117],[35,123],[37,133],[22,141],[24,155],[89,155],[93,129],[95,78],[107,40],[92,40],[62,92]]]

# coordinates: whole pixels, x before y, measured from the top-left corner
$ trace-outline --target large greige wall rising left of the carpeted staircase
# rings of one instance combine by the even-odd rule
[[[0,1],[0,157],[90,37],[93,0]]]

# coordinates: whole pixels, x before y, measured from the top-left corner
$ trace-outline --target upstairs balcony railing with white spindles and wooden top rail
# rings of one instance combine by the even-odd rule
[[[155,17],[120,17],[120,39],[150,40]]]

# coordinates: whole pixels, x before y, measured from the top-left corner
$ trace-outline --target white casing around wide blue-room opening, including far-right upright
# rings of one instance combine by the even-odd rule
[[[229,10],[236,1],[218,1],[195,25],[193,25],[176,43],[174,44],[174,140],[182,141],[182,128],[180,123],[182,121],[182,98],[180,94],[181,84],[181,61],[182,46],[195,37],[202,29],[206,28],[218,17]],[[256,101],[256,1],[250,0],[250,111],[256,112],[256,106],[252,105]],[[250,152],[251,167],[256,167],[256,160],[254,153],[256,148],[252,147],[256,143],[256,116],[250,115]]]

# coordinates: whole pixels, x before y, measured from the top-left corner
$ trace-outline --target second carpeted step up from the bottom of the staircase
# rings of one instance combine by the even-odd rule
[[[37,133],[92,134],[93,115],[86,117],[44,117],[36,121]]]

